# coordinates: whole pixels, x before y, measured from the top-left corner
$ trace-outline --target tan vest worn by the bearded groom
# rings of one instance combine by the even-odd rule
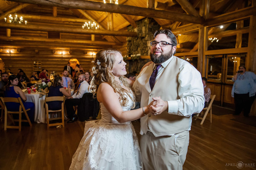
[[[141,91],[141,107],[147,106],[153,99],[153,97],[161,97],[164,101],[178,100],[178,76],[179,66],[182,59],[173,56],[170,63],[166,66],[162,75],[158,78],[153,90],[151,91],[149,86],[149,78],[152,74],[153,63],[150,64],[145,73],[139,77],[138,81]],[[191,126],[191,116],[179,116],[172,115],[164,111],[160,115],[147,115],[140,119],[141,130],[144,134],[147,133],[149,128],[155,137],[176,134],[185,130]],[[148,128],[147,128],[148,125]]]

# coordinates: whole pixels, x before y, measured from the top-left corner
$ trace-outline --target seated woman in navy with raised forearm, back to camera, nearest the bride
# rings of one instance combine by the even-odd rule
[[[50,86],[48,97],[52,96],[66,96],[70,97],[71,92],[68,85],[68,91],[61,85],[62,78],[60,76],[55,76],[53,80],[52,86]],[[69,84],[69,82],[68,82]],[[49,110],[60,110],[61,109],[61,103],[62,101],[48,101],[46,102],[48,104]]]

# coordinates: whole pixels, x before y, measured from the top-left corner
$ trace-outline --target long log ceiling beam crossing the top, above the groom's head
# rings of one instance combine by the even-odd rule
[[[152,13],[154,14],[154,18],[167,19],[173,21],[181,21],[181,22],[189,22],[195,24],[203,24],[204,19],[202,17],[198,18],[195,16],[191,16],[183,13],[175,13],[175,15],[170,15],[170,11],[162,11],[162,10],[154,10],[149,8],[136,7],[131,5],[123,5],[123,4],[104,4],[100,2],[92,2],[85,0],[12,0],[14,2],[20,3],[28,3],[28,4],[40,4],[46,6],[59,6],[66,8],[74,8],[81,10],[92,10],[92,11],[105,11],[111,13],[120,13],[127,15],[135,15],[135,16],[144,16],[144,17],[152,17]]]

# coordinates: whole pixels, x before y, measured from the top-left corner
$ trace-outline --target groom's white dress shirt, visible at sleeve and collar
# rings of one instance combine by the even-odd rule
[[[173,56],[161,64],[162,66],[159,68],[156,76],[156,82],[161,77],[166,66],[171,62],[172,59],[173,59]],[[140,76],[143,76],[144,72],[147,70],[147,67],[145,67],[141,71],[141,73],[137,78],[139,78]],[[155,63],[153,65],[153,68],[156,69]],[[172,72],[170,72],[170,74],[172,74]],[[188,63],[185,60],[182,60],[180,62],[179,74],[177,78],[179,82],[178,95],[180,99],[167,100],[168,113],[173,115],[186,116],[186,117],[191,116],[193,113],[200,113],[202,108],[204,107],[203,105],[204,101],[202,102],[202,100],[204,100],[204,93],[203,93],[204,87],[203,87],[200,73],[190,63]],[[200,90],[198,90],[198,87],[200,87]],[[140,89],[139,85],[137,85],[136,83],[133,84],[132,88],[134,89],[134,91],[138,91],[138,89]],[[192,122],[192,119],[190,119],[189,123],[191,124],[191,122]],[[190,130],[190,129],[191,129],[191,126],[187,130]],[[150,129],[148,129],[148,131],[150,131]],[[143,132],[140,131],[140,134],[142,135]],[[174,134],[168,134],[168,135],[172,136]]]

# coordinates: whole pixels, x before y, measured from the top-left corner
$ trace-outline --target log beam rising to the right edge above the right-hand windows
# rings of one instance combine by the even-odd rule
[[[205,26],[217,26],[223,23],[231,23],[245,18],[249,18],[250,15],[255,15],[256,7],[247,7],[241,10],[228,12],[214,18],[209,18],[205,21]]]

